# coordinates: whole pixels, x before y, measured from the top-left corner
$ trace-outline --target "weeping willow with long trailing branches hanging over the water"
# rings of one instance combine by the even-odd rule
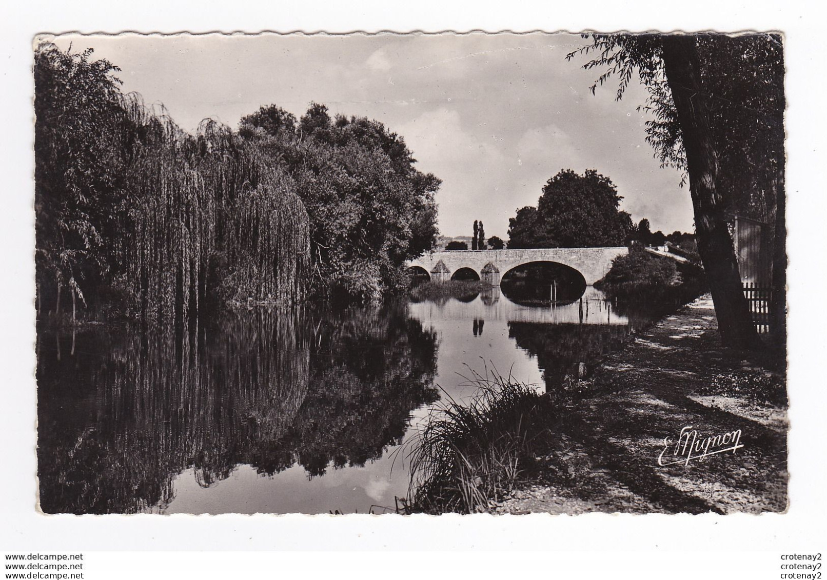
[[[149,135],[127,178],[127,281],[149,319],[189,319],[203,304],[304,298],[309,229],[304,204],[279,165],[227,126],[181,131],[138,97],[125,110]]]

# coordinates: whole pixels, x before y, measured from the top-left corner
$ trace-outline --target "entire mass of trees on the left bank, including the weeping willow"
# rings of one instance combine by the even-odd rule
[[[314,103],[189,135],[91,55],[36,50],[38,311],[180,324],[210,302],[374,300],[433,247],[440,181],[381,123]]]

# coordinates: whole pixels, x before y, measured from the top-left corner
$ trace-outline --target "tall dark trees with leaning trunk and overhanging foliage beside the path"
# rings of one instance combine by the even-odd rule
[[[576,51],[578,52],[578,51]],[[571,53],[569,58],[575,53]],[[686,171],[698,250],[709,274],[719,330],[728,345],[759,345],[741,291],[729,234],[732,214],[769,226],[774,334],[784,340],[783,45],[755,34],[595,35],[582,52],[600,68],[595,85],[619,79],[617,97],[637,72],[655,118],[647,139],[662,164]]]

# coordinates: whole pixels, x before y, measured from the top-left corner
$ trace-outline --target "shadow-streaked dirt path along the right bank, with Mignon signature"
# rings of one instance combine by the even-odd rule
[[[490,511],[786,510],[783,379],[721,348],[708,295],[607,356],[581,387],[595,394],[558,409],[521,489]],[[701,441],[721,435],[709,451],[740,430],[743,447],[686,464],[685,427]],[[679,463],[662,466],[667,437],[662,463]]]

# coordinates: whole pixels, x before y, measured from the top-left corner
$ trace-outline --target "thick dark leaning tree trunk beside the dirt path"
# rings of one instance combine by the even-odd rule
[[[664,36],[662,49],[667,83],[672,90],[686,150],[698,252],[715,303],[721,341],[735,348],[758,349],[762,343],[743,295],[738,260],[727,227],[727,204],[716,183],[718,155],[700,83],[696,38]]]

